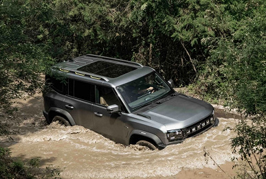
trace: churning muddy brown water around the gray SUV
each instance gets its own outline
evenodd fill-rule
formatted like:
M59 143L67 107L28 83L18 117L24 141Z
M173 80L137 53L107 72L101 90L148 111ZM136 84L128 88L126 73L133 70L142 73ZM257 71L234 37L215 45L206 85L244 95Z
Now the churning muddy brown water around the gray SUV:
M42 104L38 105L41 108ZM30 119L25 125L12 126L16 134L9 138L1 136L0 145L9 147L12 156L38 157L43 167L60 167L62 178L163 177L178 174L181 169L216 168L212 161L206 163L203 147L220 165L232 157L230 138L234 133L223 129L234 126L235 120L221 108L217 109L219 126L156 151L114 143L82 126L42 125L38 121L44 118L37 109L38 106L34 111L19 115L18 118Z

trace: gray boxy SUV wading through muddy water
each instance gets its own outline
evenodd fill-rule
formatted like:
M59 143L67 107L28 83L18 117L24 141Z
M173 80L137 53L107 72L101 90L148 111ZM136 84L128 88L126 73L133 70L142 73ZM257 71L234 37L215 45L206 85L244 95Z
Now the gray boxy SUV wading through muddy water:
M124 145L160 150L219 123L210 104L136 62L85 55L54 65L45 80L48 123L84 126Z

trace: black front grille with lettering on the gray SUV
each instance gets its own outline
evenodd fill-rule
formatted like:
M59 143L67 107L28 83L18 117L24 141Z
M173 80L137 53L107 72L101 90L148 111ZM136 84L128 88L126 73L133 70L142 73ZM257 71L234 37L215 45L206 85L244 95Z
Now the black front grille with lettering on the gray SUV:
M209 126L212 126L214 124L215 117L214 115L210 115L206 117L205 119L199 121L198 123L193 124L192 126L189 126L188 128L184 128L183 135L184 137L194 136L203 130L206 130Z

